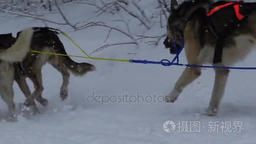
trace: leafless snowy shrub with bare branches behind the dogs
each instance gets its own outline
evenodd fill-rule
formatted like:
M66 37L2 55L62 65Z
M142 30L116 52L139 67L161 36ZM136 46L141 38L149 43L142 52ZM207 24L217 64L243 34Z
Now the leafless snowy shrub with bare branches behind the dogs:
M170 5L167 0L157 0L154 8L149 13L144 10L144 5L141 4L144 2L145 0L0 0L0 15L29 17L41 20L45 25L47 23L67 25L74 30L104 27L109 29L104 43L111 37L112 31L119 32L128 39L123 42L107 43L100 48L96 48L93 51L94 53L114 45L133 44L138 46L141 41L148 45L158 45L161 42L162 38L166 36L165 27L170 14ZM96 13L96 16L101 16L103 13L115 15L116 20L112 22L118 25L124 24L126 29L115 27L111 23L105 24L104 22L84 21L82 19L82 22L72 23L66 16L65 11L61 10L61 5L72 3L93 6L95 8L93 13ZM49 13L59 14L63 22L46 19L45 14ZM130 21L133 21L133 26L130 26ZM134 22L138 24L138 27L142 27L144 32L132 32ZM154 28L157 25L160 29L164 29L164 33L152 35L151 31L155 30ZM151 35L147 34L148 32Z

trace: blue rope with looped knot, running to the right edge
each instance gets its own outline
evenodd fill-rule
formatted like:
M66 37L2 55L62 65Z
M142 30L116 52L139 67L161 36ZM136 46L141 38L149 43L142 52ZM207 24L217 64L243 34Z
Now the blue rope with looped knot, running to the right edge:
M179 54L184 48L184 43L180 50L176 47L176 41L173 43L175 45L175 49L177 51L176 56L173 58L172 61L169 61L168 59L162 59L161 61L147 61L147 60L134 60L130 59L130 63L138 63L138 64L161 64L163 66L183 66L183 67L201 67L201 68L219 68L219 69L256 69L256 67L219 67L219 66L203 66L203 65L193 65L193 64L180 64L179 63ZM176 62L175 62L176 61Z

